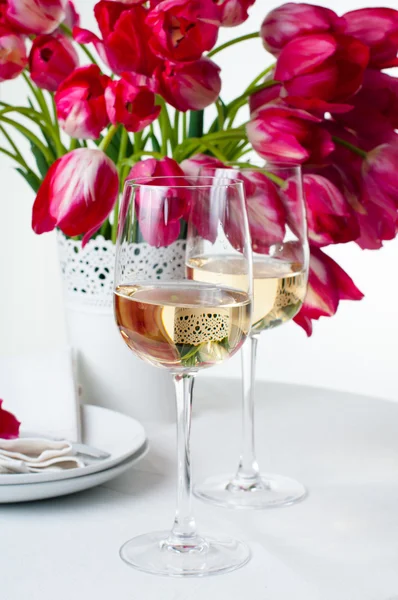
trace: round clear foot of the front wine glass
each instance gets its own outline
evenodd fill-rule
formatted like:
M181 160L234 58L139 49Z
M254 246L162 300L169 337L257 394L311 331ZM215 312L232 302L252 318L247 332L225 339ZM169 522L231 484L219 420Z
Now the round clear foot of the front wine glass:
M243 567L251 557L246 544L231 538L217 540L205 537L197 549L170 546L168 531L156 531L135 537L120 549L120 556L128 565L169 577L204 577L227 573Z

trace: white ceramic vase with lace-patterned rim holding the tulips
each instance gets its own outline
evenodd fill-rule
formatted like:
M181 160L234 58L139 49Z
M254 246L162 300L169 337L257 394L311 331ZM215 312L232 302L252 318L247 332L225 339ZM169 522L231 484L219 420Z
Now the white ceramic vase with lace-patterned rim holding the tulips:
M161 249L145 243L136 246L132 261L145 278L170 278L176 264L184 268L184 241ZM170 374L136 358L117 330L112 304L114 244L97 236L82 248L81 242L59 233L58 247L69 343L76 351L82 401L143 421L173 421Z

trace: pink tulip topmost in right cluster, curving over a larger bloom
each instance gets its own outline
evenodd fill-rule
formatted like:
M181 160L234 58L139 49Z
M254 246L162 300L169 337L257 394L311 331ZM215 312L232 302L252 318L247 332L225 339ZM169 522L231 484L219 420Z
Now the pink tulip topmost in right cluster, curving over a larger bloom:
M261 26L266 50L278 56L292 40L300 36L338 31L344 20L322 6L289 2L272 10Z

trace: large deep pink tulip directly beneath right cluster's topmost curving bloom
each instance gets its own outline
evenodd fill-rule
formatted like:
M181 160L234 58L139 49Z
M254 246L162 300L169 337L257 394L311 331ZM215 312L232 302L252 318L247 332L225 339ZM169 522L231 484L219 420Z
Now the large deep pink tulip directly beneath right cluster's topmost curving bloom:
M342 101L360 88L369 62L369 49L359 40L328 33L293 39L279 55L274 77L284 84L288 102L299 108L349 110ZM337 104L337 106L336 106Z

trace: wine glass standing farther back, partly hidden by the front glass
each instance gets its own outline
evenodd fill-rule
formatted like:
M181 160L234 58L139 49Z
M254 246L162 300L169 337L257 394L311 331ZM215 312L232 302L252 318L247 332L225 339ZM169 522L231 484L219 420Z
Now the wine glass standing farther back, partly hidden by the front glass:
M244 182L253 250L253 317L249 342L242 349L242 446L238 469L233 477L206 479L195 486L194 494L228 508L287 506L302 500L306 489L289 477L260 473L254 440L254 384L260 334L290 321L299 312L307 291L309 248L301 169L249 164L226 169L209 166L201 173L239 177ZM211 264L203 261L193 278L212 281L211 271ZM225 273L223 282L233 285L233 269Z

